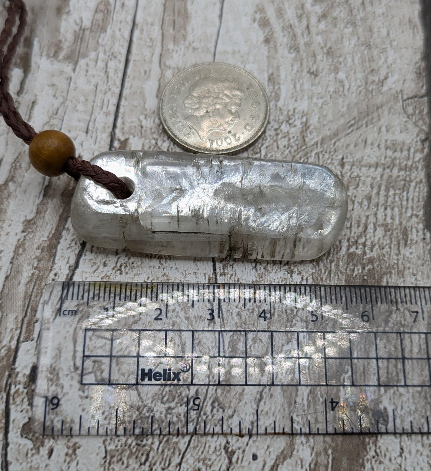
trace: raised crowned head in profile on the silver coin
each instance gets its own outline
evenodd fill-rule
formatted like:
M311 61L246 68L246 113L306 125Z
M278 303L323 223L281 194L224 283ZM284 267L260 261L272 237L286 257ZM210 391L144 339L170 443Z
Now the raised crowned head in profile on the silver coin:
M237 81L205 77L190 88L184 107L191 116L184 118L204 141L212 131L227 131L239 121L238 110L245 93Z

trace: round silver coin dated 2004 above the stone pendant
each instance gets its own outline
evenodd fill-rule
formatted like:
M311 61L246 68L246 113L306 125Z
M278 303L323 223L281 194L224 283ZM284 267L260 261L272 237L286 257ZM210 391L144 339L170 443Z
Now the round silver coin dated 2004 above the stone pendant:
M180 145L206 154L248 146L262 134L268 115L268 97L252 75L214 62L176 75L160 100L168 134Z

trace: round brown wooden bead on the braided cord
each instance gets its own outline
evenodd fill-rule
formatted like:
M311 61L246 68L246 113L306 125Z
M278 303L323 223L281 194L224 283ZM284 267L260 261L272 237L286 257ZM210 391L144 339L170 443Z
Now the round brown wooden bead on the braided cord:
M33 138L28 149L33 167L47 177L58 177L64 164L75 157L76 149L72 139L56 130L42 131Z

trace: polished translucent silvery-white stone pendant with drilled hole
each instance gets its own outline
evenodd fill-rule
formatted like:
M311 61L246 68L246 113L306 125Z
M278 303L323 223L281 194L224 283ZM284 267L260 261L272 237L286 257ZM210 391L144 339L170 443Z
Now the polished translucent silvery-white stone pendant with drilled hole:
M321 165L174 152L104 152L92 163L126 200L81 177L72 225L89 244L176 256L310 260L343 228L347 195Z

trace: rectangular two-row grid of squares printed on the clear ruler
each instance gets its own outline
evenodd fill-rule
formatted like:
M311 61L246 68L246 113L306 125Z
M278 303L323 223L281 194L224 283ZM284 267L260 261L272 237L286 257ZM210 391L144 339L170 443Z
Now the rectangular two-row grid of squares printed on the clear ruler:
M429 335L87 329L81 382L143 384L140 369L189 365L179 384L428 386Z

